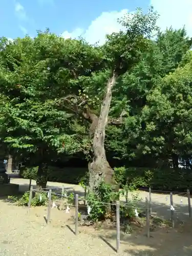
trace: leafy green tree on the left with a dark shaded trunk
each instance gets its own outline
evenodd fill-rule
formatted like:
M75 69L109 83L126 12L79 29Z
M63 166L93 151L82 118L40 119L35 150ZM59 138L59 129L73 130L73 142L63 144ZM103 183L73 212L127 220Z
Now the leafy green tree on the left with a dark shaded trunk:
M78 141L83 134L78 121L71 119L72 114L57 103L62 91L52 83L55 74L50 69L54 69L54 63L53 67L46 63L54 62L56 56L47 57L49 49L45 50L43 44L49 40L48 48L54 47L51 42L55 39L59 44L61 38L52 36L51 41L50 36L42 33L35 39L17 38L9 44L2 38L0 52L1 138L9 144L10 151L17 150L39 166L37 184L41 187L46 186L48 164L54 151L68 154L81 151Z

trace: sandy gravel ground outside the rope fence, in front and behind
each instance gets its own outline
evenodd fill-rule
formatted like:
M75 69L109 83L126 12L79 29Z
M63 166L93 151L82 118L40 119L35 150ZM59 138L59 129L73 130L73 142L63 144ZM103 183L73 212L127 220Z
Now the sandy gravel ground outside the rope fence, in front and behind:
M29 181L25 179L11 179L11 183L19 184L20 190L28 190ZM32 181L32 185L35 186L35 181ZM83 189L77 185L61 184L56 182L49 182L48 186L61 187L65 186L69 191L78 191L83 194ZM140 197L142 197L141 205L144 205L145 197L148 193L145 191L139 191ZM183 197L183 203L181 204L180 196L174 196L174 206L176 208L176 217L187 218L187 198ZM122 200L124 200L122 198ZM170 206L168 200L166 201L166 195L152 194L152 208L153 212L157 211L158 215L170 216ZM158 207L158 208L157 208ZM48 256L48 255L69 255L69 256L97 256L97 255L117 255L117 253L110 248L104 241L94 234L88 234L81 232L77 237L60 223L58 226L54 226L53 223L46 225L42 218L43 209L39 207L41 214L38 216L35 214L35 209L31 210L30 214L27 214L27 209L24 207L17 207L12 204L8 204L3 200L0 200L0 255L1 256ZM56 211L55 211L56 212ZM53 213L54 214L54 213ZM53 216L54 217L54 216ZM66 223L63 223L66 224ZM72 225L71 228L74 228ZM181 234L175 233L172 236L168 234L158 234L155 237L147 240L143 235L138 238L121 238L120 255L135 256L135 255L192 255L192 251L189 254L183 253L184 243L186 246L190 246L190 236L183 236L182 243L180 245ZM166 236L166 238L164 238ZM168 240L167 240L168 239ZM177 240L175 240L177 239ZM175 242L177 241L177 242ZM110 244L116 247L115 238L111 239ZM168 254L161 254L165 244L174 244L177 249L174 252ZM148 245L147 245L148 244ZM162 249L160 249L162 246ZM188 248L188 247L187 247ZM140 252L139 252L139 251ZM179 251L180 250L180 251ZM141 252L142 251L142 252ZM146 253L147 251L147 253ZM155 253L157 251L157 254ZM130 254L131 252L131 254ZM179 254L176 254L179 252Z

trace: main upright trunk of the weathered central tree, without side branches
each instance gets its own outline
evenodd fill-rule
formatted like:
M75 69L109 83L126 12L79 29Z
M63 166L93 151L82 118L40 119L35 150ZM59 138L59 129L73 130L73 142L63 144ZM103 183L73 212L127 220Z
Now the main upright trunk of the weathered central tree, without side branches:
M92 126L94 129L93 161L89 164L89 184L91 190L93 190L95 187L98 187L101 181L115 184L113 178L113 169L110 167L108 161L106 160L104 139L105 127L108 124L108 116L112 99L112 88L115 86L116 78L116 74L115 72L113 72L112 77L108 80L108 83L106 84L106 92L101 105L99 118L95 117L95 123L93 124L92 122Z

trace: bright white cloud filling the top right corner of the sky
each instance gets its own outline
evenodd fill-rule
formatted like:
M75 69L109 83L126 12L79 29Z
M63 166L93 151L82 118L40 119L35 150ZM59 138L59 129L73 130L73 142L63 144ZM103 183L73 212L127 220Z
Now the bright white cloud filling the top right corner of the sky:
M160 14L157 25L165 30L172 26L180 29L185 25L192 36L192 0L151 0L151 5Z

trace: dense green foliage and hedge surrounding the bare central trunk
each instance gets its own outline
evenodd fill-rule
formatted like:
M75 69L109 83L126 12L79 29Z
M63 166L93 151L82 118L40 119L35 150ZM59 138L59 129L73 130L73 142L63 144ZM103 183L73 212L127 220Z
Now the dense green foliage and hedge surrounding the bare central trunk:
M120 20L124 30L108 35L103 46L49 31L13 42L1 38L1 140L26 163L23 177L46 176L45 183L82 179L84 170L49 167L42 174L31 166L53 166L75 154L92 158L86 111L99 115L106 81L115 71L109 119L122 110L125 115L106 127L105 150L113 166L125 165L116 169L116 182L190 187L192 40L182 28L158 30L157 18L153 9L127 14Z

